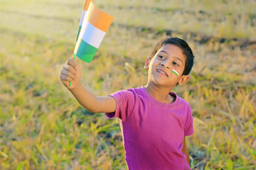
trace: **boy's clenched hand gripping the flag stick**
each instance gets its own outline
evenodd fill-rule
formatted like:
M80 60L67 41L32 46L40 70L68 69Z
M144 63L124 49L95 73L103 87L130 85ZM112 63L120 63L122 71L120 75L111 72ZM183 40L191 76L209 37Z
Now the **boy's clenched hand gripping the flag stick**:
M80 84L81 69L78 66L76 60L72 58L68 59L67 62L63 65L63 68L60 70L60 81L68 89L74 89L78 84ZM69 83L71 85L69 86Z

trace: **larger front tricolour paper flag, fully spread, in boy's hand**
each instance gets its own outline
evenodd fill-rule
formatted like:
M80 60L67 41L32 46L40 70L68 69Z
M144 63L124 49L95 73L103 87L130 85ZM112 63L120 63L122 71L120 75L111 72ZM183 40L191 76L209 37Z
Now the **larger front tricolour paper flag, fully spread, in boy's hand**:
M74 54L85 62L91 62L113 19L113 16L101 11L90 2L87 14L82 20Z

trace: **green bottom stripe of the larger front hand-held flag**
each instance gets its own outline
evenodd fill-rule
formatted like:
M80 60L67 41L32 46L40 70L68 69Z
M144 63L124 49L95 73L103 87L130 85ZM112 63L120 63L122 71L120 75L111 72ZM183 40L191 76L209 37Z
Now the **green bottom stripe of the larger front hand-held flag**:
M90 63L96 52L97 48L92 47L92 45L89 45L87 42L81 40L78 47L78 52L75 55L78 56L82 61Z

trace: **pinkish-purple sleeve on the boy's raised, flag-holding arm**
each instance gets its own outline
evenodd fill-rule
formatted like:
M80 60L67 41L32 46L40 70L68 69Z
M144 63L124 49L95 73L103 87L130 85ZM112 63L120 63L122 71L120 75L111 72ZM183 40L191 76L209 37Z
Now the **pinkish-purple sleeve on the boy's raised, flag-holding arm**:
M110 96L112 96L117 102L117 108L116 111L112 113L105 113L107 118L117 117L121 119L122 122L125 122L134 108L134 94L132 91L117 91Z

